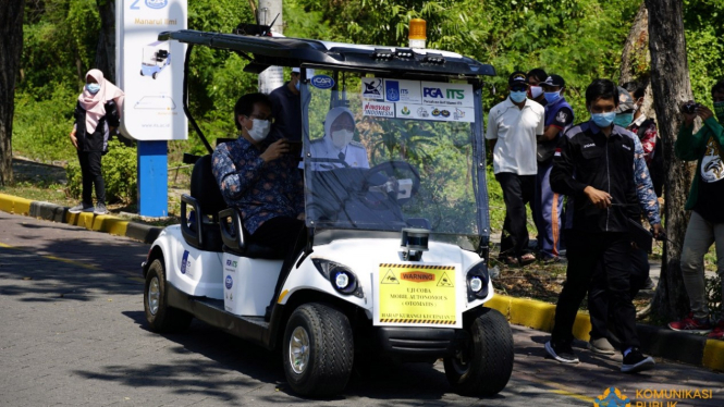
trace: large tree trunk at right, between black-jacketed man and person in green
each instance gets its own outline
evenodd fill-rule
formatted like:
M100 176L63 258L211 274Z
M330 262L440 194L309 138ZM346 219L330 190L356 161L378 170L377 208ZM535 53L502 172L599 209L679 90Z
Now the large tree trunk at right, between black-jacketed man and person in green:
M651 87L663 141L665 185L664 208L666 233L661 280L651 311L660 319L672 320L689 308L680 269L682 244L689 221L684 210L694 173L691 164L674 156L674 141L682 124L679 104L692 99L682 0L646 0L649 10L649 50Z

